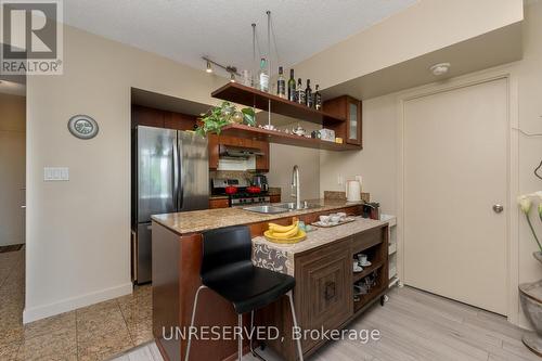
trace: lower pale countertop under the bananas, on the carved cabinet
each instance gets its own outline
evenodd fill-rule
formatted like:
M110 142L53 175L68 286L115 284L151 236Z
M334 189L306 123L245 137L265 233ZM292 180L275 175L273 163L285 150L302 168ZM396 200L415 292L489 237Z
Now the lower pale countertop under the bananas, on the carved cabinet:
M257 236L253 238L255 245L262 245L268 249L276 249L288 255L299 254L314 247L319 247L337 240L343 240L349 235L367 231L370 229L382 227L386 224L385 220L374 220L369 218L357 217L353 222L345 223L343 225L331 228L317 228L317 231L308 232L307 238L296 244L278 244L269 242L264 236Z

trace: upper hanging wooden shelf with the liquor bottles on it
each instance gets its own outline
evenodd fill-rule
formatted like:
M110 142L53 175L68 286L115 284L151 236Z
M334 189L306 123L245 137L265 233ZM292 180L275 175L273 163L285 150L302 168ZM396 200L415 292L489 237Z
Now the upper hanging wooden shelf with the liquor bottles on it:
M228 82L225 86L215 90L211 96L246 106L254 106L266 112L269 112L269 105L271 103L271 113L315 124L322 124L323 121L346 121L345 118L291 102L286 99L243 86L238 82Z

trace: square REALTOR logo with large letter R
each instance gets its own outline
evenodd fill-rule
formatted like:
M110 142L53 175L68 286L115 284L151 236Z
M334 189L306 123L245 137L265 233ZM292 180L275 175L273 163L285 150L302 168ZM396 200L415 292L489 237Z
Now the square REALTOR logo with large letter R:
M62 74L61 1L0 0L0 74Z

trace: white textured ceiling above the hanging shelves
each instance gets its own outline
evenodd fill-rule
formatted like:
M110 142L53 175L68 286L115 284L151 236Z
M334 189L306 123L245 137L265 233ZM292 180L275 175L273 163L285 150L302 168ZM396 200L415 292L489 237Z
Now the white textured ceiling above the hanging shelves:
M64 22L196 68L204 68L201 57L207 55L241 70L254 68L251 23L262 55L267 52L270 10L275 69L278 63L297 64L416 1L69 0L64 1Z

